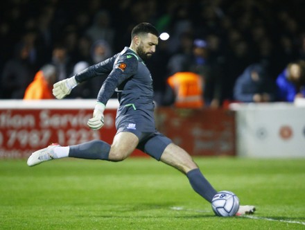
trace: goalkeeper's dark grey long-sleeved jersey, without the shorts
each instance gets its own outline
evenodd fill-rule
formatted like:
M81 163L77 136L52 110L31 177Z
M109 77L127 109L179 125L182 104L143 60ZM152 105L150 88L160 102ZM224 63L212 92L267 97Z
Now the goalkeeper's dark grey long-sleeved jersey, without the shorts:
M130 48L125 47L121 53L76 74L76 81L84 82L105 74L108 76L98 92L98 102L106 105L114 91L118 91L121 106L132 104L137 108L153 109L150 71L141 57Z

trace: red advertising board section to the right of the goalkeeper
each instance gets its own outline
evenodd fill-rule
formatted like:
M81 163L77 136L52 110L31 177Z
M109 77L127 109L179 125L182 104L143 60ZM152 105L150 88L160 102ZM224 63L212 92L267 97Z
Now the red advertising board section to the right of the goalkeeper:
M158 108L159 131L191 155L236 154L235 114L227 109Z

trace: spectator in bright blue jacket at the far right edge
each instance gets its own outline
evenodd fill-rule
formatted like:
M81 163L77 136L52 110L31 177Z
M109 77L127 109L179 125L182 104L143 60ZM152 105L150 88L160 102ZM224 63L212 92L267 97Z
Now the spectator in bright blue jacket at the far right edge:
M293 102L305 97L305 61L290 62L277 77L278 100Z

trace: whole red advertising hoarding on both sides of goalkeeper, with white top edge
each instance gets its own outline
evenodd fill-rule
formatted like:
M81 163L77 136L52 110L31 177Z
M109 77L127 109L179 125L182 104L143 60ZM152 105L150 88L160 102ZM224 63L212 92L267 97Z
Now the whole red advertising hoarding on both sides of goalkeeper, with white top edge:
M94 100L15 101L0 105L0 159L26 158L51 143L76 145L116 134L116 104L107 104L101 130L89 129ZM62 109L63 108L63 109ZM156 109L157 129L192 155L235 155L234 112L223 109ZM136 150L132 156L147 156Z

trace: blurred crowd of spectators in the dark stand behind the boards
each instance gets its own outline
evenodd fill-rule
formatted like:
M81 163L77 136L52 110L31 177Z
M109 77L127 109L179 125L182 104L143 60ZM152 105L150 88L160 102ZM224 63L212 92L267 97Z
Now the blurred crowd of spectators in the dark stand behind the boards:
M202 78L195 82L207 107L293 101L305 96L304 7L302 0L1 1L0 98L22 99L34 81L51 89L129 46L131 29L147 21L170 35L146 62L159 105L174 103L176 73ZM104 79L69 98L96 98Z

